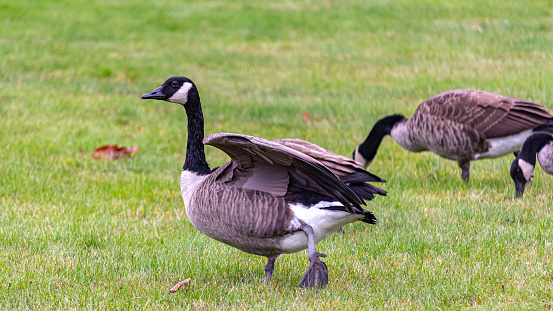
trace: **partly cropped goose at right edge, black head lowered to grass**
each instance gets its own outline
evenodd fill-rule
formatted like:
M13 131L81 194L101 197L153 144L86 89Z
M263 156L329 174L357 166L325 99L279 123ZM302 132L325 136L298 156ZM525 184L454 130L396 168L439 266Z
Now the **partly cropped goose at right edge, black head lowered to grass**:
M547 174L553 175L553 136L548 133L537 133L528 137L511 164L511 178L515 182L517 198L524 194L524 187L530 181L536 166L536 153L541 168Z

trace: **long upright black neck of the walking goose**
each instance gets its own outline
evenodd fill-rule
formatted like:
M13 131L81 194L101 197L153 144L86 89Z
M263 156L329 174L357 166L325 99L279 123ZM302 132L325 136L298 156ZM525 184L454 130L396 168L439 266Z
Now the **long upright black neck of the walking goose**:
M188 117L188 141L186 142L186 160L184 160L182 170L200 175L210 174L211 169L205 159L202 142L204 139L204 115L197 91L188 94L188 102L184 108Z

